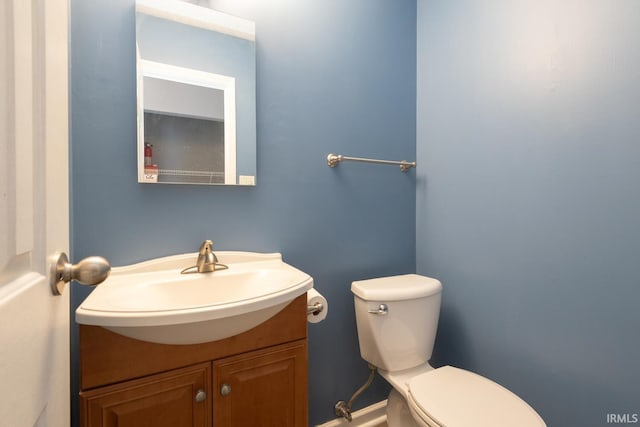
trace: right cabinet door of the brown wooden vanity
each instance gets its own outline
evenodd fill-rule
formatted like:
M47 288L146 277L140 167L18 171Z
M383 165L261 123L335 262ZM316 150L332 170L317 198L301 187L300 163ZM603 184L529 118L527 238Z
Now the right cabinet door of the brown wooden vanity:
M307 427L307 343L214 361L216 427Z

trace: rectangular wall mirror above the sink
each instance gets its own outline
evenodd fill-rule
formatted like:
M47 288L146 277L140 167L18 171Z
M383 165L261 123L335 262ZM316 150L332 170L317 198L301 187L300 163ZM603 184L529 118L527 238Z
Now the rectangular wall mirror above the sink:
M255 25L136 0L138 182L255 185Z

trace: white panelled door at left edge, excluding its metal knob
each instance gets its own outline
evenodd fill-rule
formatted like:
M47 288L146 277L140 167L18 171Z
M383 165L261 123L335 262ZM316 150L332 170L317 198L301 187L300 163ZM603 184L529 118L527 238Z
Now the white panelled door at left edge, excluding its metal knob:
M69 426L67 0L0 0L0 425Z

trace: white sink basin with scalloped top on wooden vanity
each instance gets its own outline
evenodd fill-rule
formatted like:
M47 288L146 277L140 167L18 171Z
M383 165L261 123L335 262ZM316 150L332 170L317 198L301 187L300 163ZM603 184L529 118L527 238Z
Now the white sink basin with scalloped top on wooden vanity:
M313 287L279 253L216 251L229 266L180 274L197 253L115 267L76 310L76 321L162 344L197 344L248 331Z

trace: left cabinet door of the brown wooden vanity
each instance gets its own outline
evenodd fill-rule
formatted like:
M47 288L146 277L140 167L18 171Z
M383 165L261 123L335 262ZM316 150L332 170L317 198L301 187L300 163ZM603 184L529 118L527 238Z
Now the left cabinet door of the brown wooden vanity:
M211 364L80 393L85 427L211 426Z

